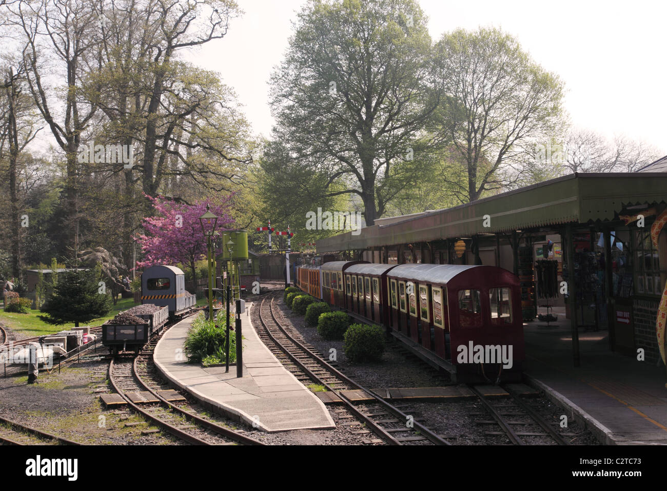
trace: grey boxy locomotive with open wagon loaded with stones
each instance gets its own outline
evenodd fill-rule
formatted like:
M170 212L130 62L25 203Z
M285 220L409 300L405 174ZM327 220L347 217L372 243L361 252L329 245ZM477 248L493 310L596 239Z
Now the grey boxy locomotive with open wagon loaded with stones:
M111 353L135 351L169 321L189 313L197 303L185 291L185 275L174 266L151 266L141 275L141 304L102 326L102 344Z

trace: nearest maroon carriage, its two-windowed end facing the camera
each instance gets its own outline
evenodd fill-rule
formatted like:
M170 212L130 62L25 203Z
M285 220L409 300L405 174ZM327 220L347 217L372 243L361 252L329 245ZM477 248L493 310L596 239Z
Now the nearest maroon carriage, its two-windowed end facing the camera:
M387 281L394 331L457 365L458 373L482 371L489 379L496 378L503 363L471 363L468 351L481 346L495 357L493 347L508 356L511 349L512 361L506 365L512 367L505 369L520 375L525 358L521 291L510 271L482 265L398 265L388 271Z

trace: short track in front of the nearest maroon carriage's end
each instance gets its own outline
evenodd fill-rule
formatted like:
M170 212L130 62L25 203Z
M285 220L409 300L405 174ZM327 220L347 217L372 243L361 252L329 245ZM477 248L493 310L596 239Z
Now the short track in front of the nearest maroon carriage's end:
M487 413L493 418L493 420L478 420L477 423L484 425L496 424L502 430L502 432L486 432L487 435L505 435L513 445L535 444L535 442L529 442L528 440L544 439L544 437L550 438L557 445L568 445L568 442L552 428L549 422L530 407L526 401L523 401L520 395L514 393L512 389L504 387L510 397L498 399L496 403L473 385L468 387L478 396ZM484 416L484 414L474 414L473 416Z

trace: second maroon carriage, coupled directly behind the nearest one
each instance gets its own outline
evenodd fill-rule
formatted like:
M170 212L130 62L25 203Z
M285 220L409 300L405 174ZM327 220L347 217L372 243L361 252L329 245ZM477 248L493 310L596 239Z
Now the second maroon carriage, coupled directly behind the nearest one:
M387 273L396 265L360 263L345 270L346 307L376 324L391 326L387 304ZM352 283L356 297L352 295ZM356 310L355 310L356 309Z

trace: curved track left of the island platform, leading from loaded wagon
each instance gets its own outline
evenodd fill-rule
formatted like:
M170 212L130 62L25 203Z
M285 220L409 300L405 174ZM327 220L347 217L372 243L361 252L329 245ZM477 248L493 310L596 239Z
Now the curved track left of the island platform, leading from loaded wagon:
M165 333L163 329L161 333ZM111 359L109 362L109 381L113 389L137 414L159 426L165 432L183 442L193 445L263 445L261 442L239 432L221 426L205 416L195 414L194 410L185 410L175 403L167 401L159 393L153 365L153 348L157 339L149 341L139 356L123 359ZM147 391L157 399L156 403L137 404L129 394Z

